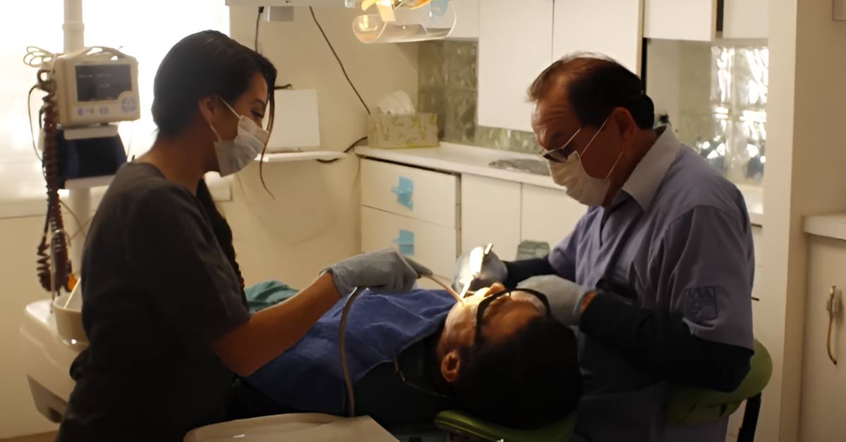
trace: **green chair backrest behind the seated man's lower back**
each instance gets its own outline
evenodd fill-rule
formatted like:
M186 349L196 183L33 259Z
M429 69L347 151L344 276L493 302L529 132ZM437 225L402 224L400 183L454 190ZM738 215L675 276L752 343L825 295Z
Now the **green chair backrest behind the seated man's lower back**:
M770 382L772 358L761 342L755 341L755 355L750 360L749 374L731 393L677 385L667 400L667 421L670 423L714 422L737 411L743 401L758 396Z

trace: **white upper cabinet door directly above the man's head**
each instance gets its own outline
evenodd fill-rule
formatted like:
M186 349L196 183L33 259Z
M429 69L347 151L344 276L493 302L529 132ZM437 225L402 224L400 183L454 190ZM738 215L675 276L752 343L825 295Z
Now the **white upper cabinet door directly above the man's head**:
M552 57L598 52L640 75L643 0L556 0Z

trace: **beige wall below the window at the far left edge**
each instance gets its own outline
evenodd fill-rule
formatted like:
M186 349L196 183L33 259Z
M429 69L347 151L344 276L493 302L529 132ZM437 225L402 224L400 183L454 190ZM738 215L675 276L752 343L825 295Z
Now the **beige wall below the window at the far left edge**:
M56 428L36 411L30 398L19 335L26 304L50 296L36 277L36 246L43 227L41 216L0 220L0 439Z

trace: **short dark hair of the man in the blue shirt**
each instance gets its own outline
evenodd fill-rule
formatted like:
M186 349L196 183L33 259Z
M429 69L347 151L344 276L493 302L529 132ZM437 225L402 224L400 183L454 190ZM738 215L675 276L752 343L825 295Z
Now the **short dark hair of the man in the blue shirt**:
M639 128L655 124L655 106L643 82L609 57L575 53L544 69L529 88L529 99L539 101L555 87L567 88L570 107L579 122L599 126L615 107L632 114Z

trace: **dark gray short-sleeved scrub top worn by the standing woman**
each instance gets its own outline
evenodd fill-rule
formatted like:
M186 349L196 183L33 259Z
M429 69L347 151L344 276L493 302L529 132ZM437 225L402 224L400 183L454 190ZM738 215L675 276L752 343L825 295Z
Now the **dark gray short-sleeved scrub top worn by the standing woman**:
M127 163L85 241L82 322L90 346L58 441L181 441L222 422L234 374L211 342L250 319L201 197L156 166Z

